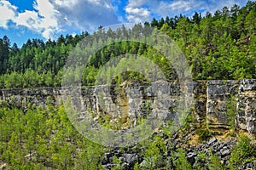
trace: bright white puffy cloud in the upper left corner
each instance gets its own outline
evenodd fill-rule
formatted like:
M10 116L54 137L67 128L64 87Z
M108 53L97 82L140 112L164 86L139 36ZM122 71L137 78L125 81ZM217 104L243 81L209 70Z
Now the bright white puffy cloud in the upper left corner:
M18 13L17 7L9 1L0 2L0 26L8 29L8 22L11 20L15 26L25 26L29 30L42 34L45 38L54 38L55 31L60 31L58 25L58 12L49 3L49 0L37 0L33 7L35 10L25 10Z

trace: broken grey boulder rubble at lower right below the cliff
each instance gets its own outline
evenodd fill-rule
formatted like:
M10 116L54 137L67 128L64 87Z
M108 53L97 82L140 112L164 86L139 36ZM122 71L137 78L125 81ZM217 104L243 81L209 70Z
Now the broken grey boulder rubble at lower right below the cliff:
M187 135L186 135L187 136ZM183 146L185 148L183 148ZM197 169L196 167L201 167L200 169L208 169L208 163L211 161L211 156L218 156L218 159L222 162L224 167L229 166L231 150L234 149L236 145L236 139L222 140L212 138L207 141L205 144L198 145L189 145L186 144L184 138L177 138L166 140L166 150L167 154L163 156L162 162L164 164L168 162L168 166L170 169L176 169L174 160L177 158L173 156L173 152L177 152L178 149L183 148L187 161L189 164L193 166L193 169ZM136 147L136 146L134 146ZM147 167L147 161L139 152L131 153L132 148L128 150L120 150L119 148L115 148L108 153L105 153L104 158L102 159L102 166L105 169L111 169L112 167L116 167L117 164L113 164L113 157L116 156L120 165L124 169L133 169L136 162L139 163L140 167ZM128 154L126 152L129 152ZM168 160L168 161L166 161ZM160 165L160 162L157 162ZM255 169L255 164L253 162L245 162L243 165L237 167L239 169Z

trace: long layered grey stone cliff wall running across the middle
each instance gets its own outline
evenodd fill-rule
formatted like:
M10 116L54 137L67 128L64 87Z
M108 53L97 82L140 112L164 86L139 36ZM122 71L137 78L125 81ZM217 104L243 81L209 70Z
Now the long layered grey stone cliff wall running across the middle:
M229 127L232 119L227 114L227 104L232 97L236 104L236 129L256 134L256 80L197 81L185 85L179 82L152 82L143 86L123 84L78 89L1 89L0 105L26 109L30 103L45 107L60 104L65 95L71 98L72 105L77 109L81 109L78 104L82 104L85 110L120 117L124 124L128 121L136 124L138 116L146 117L150 113L164 121L175 120L177 112L189 104L189 113L193 114L195 122L200 124L207 118L212 129ZM190 105L191 102L193 105Z

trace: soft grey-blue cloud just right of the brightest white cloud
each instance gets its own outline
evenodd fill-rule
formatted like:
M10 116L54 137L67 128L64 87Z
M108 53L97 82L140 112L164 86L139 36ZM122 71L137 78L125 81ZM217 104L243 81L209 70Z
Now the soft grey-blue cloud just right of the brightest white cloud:
M52 4L61 14L61 25L76 26L79 30L94 31L98 26L120 22L110 0L52 0Z

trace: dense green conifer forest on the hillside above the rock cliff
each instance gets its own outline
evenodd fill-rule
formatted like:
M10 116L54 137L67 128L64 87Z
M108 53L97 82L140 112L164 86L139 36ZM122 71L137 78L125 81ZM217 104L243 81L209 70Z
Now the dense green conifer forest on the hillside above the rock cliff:
M241 8L235 4L214 14L201 16L195 12L192 17L181 14L173 18L154 19L143 25L166 32L177 43L189 62L193 79L245 79L256 78L255 18L256 3L248 1ZM105 31L99 27L92 37L96 40L96 37L104 35L113 38L120 34L137 35L137 31L143 31L143 25L116 31ZM90 34L84 31L76 36L61 35L56 41L29 39L21 48L16 43L11 45L9 38L4 36L0 39L0 88L60 87L63 66L70 52L87 36ZM83 84L94 85L101 66L113 56L127 52L143 54L161 65L160 59L154 57L152 48L123 41L102 48L92 56L90 64L84 68Z

